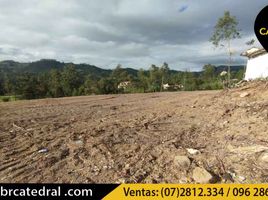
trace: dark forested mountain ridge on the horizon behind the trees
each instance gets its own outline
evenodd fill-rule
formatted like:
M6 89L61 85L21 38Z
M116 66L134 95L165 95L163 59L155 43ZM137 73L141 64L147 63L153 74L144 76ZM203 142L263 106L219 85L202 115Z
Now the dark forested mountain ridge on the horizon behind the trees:
M58 69L62 70L67 65L74 65L76 69L84 74L92 74L95 77L103 77L103 76L109 76L109 74L112 72L111 69L102 69L99 67L96 67L94 65L89 64L74 64L74 63L64 63L59 62L57 60L53 59L42 59L35 62L29 62L29 63L20 63L12 60L6 60L0 62L0 72L6 72L6 73L23 73L23 72L29 72L29 73L43 73L43 72L49 72L51 69ZM244 69L244 66L232 66L231 71L237 72L241 69ZM132 68L125 68L125 70L133 75L137 76L138 70L132 69ZM227 70L227 66L220 65L216 67L216 73L221 73L222 71ZM170 73L178 73L180 71L177 70L170 70ZM199 75L201 72L195 72L196 75Z

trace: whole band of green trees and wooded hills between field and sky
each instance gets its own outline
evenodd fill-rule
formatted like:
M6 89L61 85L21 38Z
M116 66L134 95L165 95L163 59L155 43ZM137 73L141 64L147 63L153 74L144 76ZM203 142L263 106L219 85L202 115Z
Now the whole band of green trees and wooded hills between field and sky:
M56 67L51 67L54 63ZM47 67L46 67L47 66ZM91 65L41 60L36 63L0 62L1 101L91 94L144 93L222 89L220 73L226 66L207 64L201 72L170 70L167 63L149 70L118 65L104 70ZM231 67L231 78L241 80L243 66ZM169 87L164 88L164 85Z

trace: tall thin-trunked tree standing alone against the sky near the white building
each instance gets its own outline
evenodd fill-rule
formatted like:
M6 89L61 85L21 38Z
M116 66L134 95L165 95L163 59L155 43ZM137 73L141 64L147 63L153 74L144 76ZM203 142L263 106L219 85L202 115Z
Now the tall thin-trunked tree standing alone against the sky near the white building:
M230 68L232 62L231 40L240 38L240 32L237 29L238 22L235 16L231 16L229 11L224 12L224 16L218 19L214 27L214 33L210 41L215 47L219 45L227 48L228 62L228 86L230 86ZM222 44L223 43L223 44Z

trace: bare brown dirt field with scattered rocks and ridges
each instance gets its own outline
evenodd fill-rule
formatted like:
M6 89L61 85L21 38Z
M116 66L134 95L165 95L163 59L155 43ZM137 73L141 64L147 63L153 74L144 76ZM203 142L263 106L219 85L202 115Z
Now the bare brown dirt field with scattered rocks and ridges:
M0 103L0 182L268 182L268 84Z

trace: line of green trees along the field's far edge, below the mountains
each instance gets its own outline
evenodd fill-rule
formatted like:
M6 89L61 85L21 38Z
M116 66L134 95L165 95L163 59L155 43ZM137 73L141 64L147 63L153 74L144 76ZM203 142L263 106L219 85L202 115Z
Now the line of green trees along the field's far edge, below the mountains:
M130 74L118 65L105 77L97 78L67 65L62 70L52 69L40 73L1 73L0 95L17 96L22 99L56 98L91 94L145 93L165 90L214 90L224 87L224 77L213 65L205 65L203 71L178 72L169 69L167 63L152 65L149 70L140 69L137 75ZM232 79L241 80L244 71L232 72ZM118 87L127 82L125 87ZM180 88L164 89L164 84L180 85Z

